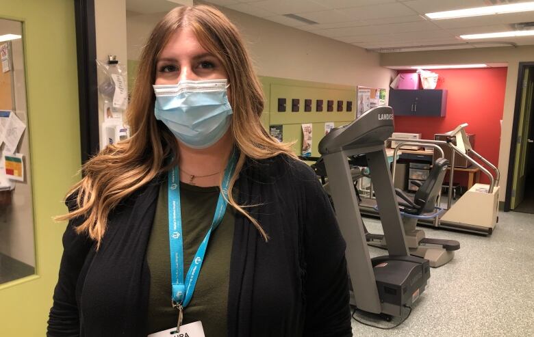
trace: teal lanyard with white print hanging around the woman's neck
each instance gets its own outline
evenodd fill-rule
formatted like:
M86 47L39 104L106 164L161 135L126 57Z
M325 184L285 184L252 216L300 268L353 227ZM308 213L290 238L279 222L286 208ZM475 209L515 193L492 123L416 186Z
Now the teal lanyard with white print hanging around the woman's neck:
M219 226L220 222L223 221L226 212L227 202L225 198L228 198L228 186L233 171L236 169L237 161L236 151L234 150L225 169L222 184L223 189L219 194L212 226L207 231L203 241L199 245L199 249L194 255L194 259L186 275L186 280L183 280L183 239L179 170L176 166L168 172L168 240L170 247L170 279L173 285L173 306L185 308L191 301L196 280L199 278L202 262L204 261L209 236Z

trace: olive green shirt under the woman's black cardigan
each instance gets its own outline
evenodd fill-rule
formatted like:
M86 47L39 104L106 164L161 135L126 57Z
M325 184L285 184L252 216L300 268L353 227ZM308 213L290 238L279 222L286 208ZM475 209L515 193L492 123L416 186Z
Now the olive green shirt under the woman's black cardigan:
M184 273L187 273L196 250L212 225L218 196L218 187L198 187L180 183ZM227 336L227 301L234 221L235 210L227 206L223 221L209 239L193 297L183 310L183 324L201 321L207 337ZM172 308L170 302L166 181L162 183L157 198L147 248L147 262L150 269L148 332L152 334L174 327L178 317L177 310Z

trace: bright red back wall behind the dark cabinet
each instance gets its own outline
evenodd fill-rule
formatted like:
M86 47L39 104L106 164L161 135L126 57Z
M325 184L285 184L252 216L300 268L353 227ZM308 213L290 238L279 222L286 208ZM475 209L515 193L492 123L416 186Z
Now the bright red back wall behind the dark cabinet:
M468 123L466 131L476 134L474 150L497 166L507 68L431 71L440 75L436 89L448 90L446 116L396 116L395 132L421 133L423 139L434 139L434 133L451 131L461 123ZM464 181L458 180L466 185ZM489 183L482 173L481 182Z

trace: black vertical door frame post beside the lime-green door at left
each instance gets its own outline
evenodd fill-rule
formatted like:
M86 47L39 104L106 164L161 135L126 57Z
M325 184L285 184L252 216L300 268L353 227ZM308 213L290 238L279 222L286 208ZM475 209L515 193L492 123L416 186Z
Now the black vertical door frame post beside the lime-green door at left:
M94 0L74 0L81 162L99 150L97 90L97 42L94 28Z

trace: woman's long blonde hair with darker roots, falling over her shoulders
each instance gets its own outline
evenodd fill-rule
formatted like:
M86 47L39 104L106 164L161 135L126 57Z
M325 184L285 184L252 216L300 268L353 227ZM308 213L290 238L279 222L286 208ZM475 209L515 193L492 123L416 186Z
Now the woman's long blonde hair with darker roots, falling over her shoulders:
M236 170L230 180L228 202L254 224L264 239L267 234L256 219L233 199L232 189L246 157L266 159L279 154L295 157L291 144L279 143L270 137L261 124L264 109L262 86L253 70L251 57L244 47L240 33L228 18L207 5L179 7L171 10L157 23L142 51L136 82L127 111L131 137L107 146L82 167L84 178L67 193L77 196L77 207L66 215L56 217L63 221L83 217L76 228L85 232L100 245L107 226L107 217L124 198L140 189L153 178L177 165L175 136L154 116L157 57L170 37L183 27L189 27L203 48L218 57L228 74L231 87L230 104L233 107L232 135L240 150Z

